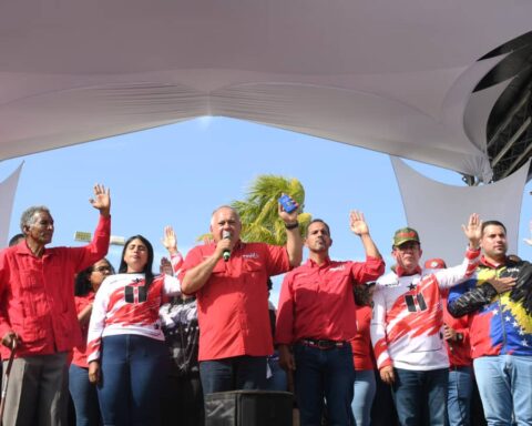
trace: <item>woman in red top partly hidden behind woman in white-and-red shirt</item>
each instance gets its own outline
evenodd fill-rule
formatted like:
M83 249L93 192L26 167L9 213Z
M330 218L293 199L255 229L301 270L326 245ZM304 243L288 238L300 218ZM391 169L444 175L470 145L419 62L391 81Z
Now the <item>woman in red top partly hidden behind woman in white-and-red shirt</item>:
M114 274L114 268L106 258L102 258L81 271L75 277L75 310L85 343L94 297L103 280L110 274ZM99 426L101 425L100 406L96 388L89 382L86 355L86 345L74 347L69 369L69 389L74 403L76 426Z

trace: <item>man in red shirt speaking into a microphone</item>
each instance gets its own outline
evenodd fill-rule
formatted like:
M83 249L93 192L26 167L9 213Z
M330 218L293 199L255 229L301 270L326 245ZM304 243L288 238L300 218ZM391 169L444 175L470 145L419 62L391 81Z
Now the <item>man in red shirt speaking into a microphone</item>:
M197 297L205 395L265 386L266 356L273 353L266 282L299 265L303 254L297 210L287 213L279 204L278 212L286 246L242 242L241 217L221 206L211 220L214 242L194 247L183 264L182 291Z

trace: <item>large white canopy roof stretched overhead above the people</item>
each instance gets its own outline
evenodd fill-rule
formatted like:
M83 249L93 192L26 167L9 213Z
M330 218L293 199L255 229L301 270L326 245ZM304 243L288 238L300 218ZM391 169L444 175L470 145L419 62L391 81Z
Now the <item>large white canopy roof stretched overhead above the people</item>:
M490 178L472 95L526 0L0 4L0 160L224 115ZM477 100L479 99L479 100Z

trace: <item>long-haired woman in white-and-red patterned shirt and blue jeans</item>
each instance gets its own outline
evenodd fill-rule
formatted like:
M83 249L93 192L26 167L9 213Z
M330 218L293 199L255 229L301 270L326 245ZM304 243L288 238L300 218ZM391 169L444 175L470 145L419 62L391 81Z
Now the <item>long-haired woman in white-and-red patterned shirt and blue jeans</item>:
M152 244L142 235L130 237L119 274L103 282L94 301L89 378L98 383L104 425L160 424L167 349L158 308L163 295L178 294L181 285L173 276L154 276L152 264Z

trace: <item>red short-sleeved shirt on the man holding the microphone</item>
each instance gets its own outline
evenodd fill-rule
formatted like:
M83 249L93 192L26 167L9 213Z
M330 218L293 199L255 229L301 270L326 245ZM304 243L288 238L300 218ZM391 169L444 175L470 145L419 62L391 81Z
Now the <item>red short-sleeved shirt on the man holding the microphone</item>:
M180 274L214 254L215 244L188 252ZM238 243L228 262L219 260L196 293L200 323L200 361L273 353L268 315L269 276L290 268L285 247Z

